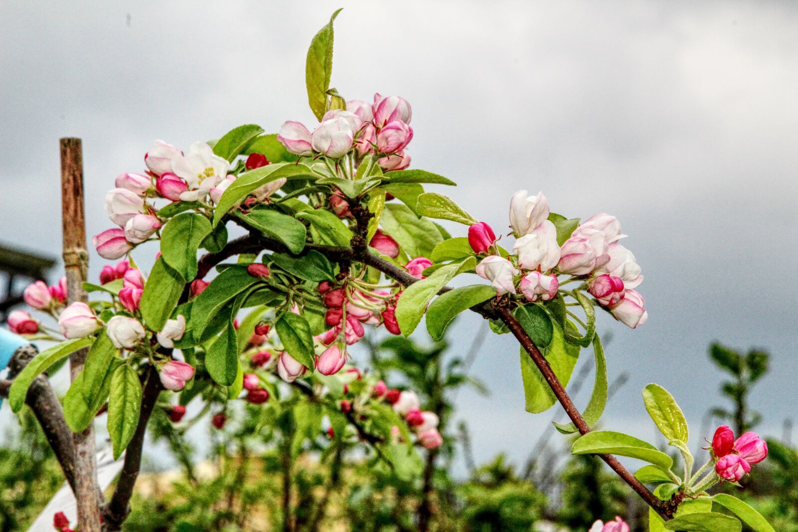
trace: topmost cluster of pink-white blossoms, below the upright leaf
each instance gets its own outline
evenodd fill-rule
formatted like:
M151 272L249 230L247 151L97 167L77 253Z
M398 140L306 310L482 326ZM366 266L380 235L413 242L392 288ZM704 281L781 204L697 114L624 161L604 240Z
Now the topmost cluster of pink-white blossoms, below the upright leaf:
M412 116L404 98L377 93L373 104L349 100L346 110L330 109L312 133L299 122L286 121L277 140L298 156L340 159L354 150L359 157L377 156L384 171L402 170L410 164L405 148L413 140Z

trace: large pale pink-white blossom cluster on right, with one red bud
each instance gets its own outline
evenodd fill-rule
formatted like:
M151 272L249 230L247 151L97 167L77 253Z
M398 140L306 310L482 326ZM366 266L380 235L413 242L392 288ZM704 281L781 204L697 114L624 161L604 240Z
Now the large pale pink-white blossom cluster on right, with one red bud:
M543 192L536 196L518 191L510 202L510 227L516 236L513 255L503 256L496 234L487 223L468 229L468 242L477 254L487 256L476 273L488 279L496 294L523 294L528 301L548 301L557 296L561 274L564 282L583 281L587 291L618 321L631 328L648 319L643 298L634 289L642 283L634 254L618 243L621 224L614 216L600 213L576 227L563 245L550 220Z

